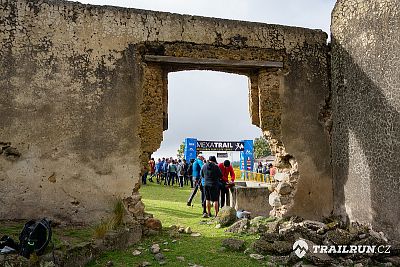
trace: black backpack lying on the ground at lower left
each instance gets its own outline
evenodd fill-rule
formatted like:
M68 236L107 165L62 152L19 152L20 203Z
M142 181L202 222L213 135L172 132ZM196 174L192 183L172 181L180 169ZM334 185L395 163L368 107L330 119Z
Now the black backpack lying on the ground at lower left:
M46 218L27 222L19 235L19 254L28 259L33 252L42 255L51 240L51 235L50 221Z

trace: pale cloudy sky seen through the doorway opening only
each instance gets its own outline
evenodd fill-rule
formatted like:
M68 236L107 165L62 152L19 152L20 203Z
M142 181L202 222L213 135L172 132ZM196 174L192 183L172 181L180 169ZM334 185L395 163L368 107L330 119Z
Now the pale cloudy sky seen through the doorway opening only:
M187 137L198 140L254 140L261 129L251 124L248 77L213 71L180 71L168 74L168 130L152 155L177 158ZM215 152L203 152L207 158ZM183 155L179 155L182 158ZM229 152L231 162L239 152ZM217 158L218 162L224 158Z

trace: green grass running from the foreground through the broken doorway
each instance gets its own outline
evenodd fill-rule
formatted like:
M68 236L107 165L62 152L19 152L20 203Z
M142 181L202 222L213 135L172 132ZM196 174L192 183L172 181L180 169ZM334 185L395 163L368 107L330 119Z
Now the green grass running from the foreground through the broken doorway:
M142 186L140 193L146 205L146 211L161 220L164 230L159 236L144 239L140 244L124 251L111 251L103 254L98 260L88 266L105 266L112 261L114 266L138 266L144 261L151 266L159 266L159 262L150 253L152 244L159 244L165 256L164 266L189 266L197 264L201 266L263 266L266 261L251 259L243 252L221 250L222 240L227 237L236 237L246 241L248 246L256 237L250 235L234 235L225 233L223 228L216 229L212 219L201 218L200 194L193 200L194 206L186 206L186 201L191 189L188 187L165 187L154 183ZM207 224L209 222L210 224ZM200 237L192 237L181 234L179 237L171 237L168 227L180 225L191 227L193 232L201 233ZM133 256L135 249L142 251L139 256ZM163 251L167 249L168 251ZM184 257L179 260L177 257Z

